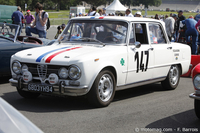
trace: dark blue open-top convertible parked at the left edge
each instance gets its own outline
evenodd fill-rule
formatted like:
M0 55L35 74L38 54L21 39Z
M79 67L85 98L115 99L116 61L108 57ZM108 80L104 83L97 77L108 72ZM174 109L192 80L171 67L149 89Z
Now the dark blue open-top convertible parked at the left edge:
M0 76L10 75L10 57L18 51L52 44L51 40L17 36L18 25L0 23Z

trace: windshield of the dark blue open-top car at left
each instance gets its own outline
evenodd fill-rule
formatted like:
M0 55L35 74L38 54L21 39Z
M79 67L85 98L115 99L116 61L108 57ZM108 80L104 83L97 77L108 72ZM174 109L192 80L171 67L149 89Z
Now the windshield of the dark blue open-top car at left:
M0 23L0 37L14 40L18 33L18 25Z

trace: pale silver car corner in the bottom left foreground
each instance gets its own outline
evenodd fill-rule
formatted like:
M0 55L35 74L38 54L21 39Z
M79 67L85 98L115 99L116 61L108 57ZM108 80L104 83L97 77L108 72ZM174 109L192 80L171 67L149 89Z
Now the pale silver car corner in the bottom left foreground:
M24 115L0 97L1 133L43 133Z

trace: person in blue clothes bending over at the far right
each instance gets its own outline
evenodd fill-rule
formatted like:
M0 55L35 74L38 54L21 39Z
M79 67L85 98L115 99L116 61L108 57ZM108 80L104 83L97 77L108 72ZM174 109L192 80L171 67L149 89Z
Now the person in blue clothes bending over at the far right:
M186 25L187 30L185 31L185 37L187 43L189 42L188 37L192 36L192 54L197 54L197 42L198 42L198 32L195 28L197 21L194 20L193 16L189 16L188 19L182 21Z

